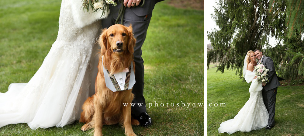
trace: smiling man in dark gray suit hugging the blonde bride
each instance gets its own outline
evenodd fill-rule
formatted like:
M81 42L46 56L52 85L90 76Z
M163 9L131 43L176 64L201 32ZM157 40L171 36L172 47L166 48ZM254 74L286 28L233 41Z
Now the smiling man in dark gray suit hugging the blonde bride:
M275 72L275 66L272 59L264 56L263 52L260 50L254 50L254 53L256 54L257 59L261 61L261 64L263 64L266 69L269 69L267 72L268 83L263 83L263 101L269 113L268 125L265 129L271 129L275 126L275 98L277 96L280 82L278 80L277 73Z

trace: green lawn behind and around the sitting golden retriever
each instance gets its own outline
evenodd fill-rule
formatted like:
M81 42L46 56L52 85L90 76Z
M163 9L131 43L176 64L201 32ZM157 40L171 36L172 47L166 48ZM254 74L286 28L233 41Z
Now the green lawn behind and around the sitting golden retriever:
M0 2L0 92L11 83L28 82L38 70L56 40L60 4L60 0ZM167 1L155 6L142 47L144 96L147 106L153 103L147 108L153 125L133 127L137 135L203 135L203 107L197 104L203 103L203 24L203 11L177 9ZM191 106L182 107L181 101ZM93 135L82 132L82 125L76 121L63 128L31 130L25 123L10 124L0 128L0 135ZM104 126L103 134L124 135L124 131L119 125Z

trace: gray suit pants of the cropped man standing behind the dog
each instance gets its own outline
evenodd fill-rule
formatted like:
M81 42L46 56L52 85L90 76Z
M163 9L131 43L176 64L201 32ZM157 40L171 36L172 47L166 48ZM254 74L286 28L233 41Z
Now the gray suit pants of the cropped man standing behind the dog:
M116 7L110 6L110 14L106 19L102 19L102 28L109 28L110 26L115 24L116 18L118 16L119 7L121 3L117 3ZM154 7L154 6L153 6ZM141 58L142 51L141 47L143 42L146 39L147 29L150 23L150 19L152 16L152 11L147 16L137 16L130 8L126 8L124 17L123 17L123 25L129 26L132 25L134 37L136 38L136 46L134 47L134 62L135 62L135 80L136 83L133 86L132 93L134 94L134 99L132 103L135 103L135 106L131 107L132 113L135 116L138 116L140 113L146 112L146 101L143 96L143 78L144 78L144 66L143 66L143 58ZM96 61L96 60L95 60ZM95 62L97 67L97 64ZM95 66L94 66L95 67ZM97 72L93 72L93 76ZM96 77L96 76L95 76ZM138 105L142 103L142 105Z

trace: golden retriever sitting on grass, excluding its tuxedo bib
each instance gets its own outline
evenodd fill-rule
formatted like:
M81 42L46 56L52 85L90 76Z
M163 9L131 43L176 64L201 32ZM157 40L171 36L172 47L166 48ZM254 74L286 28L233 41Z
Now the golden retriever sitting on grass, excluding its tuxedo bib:
M133 62L136 39L132 26L113 25L104 29L99 37L101 52L98 63L98 74L95 82L95 94L89 97L82 106L80 122L85 123L82 131L94 128L94 136L102 136L102 125L120 123L127 136L135 136L132 126L139 125L138 120L131 119L131 105L134 95L132 89L112 92L105 84L103 66L109 75L122 72ZM102 62L103 56L103 62ZM106 75L107 76L107 75ZM129 103L124 106L123 103ZM132 122L131 122L132 120Z

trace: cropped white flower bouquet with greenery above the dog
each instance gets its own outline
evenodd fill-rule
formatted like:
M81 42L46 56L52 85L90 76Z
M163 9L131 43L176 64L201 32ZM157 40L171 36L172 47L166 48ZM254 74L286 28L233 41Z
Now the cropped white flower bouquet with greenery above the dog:
M89 12L90 8L94 12L102 10L102 16L105 12L109 11L109 4L112 4L113 6L117 5L114 0L83 0L82 2L83 10L86 10L87 12Z

